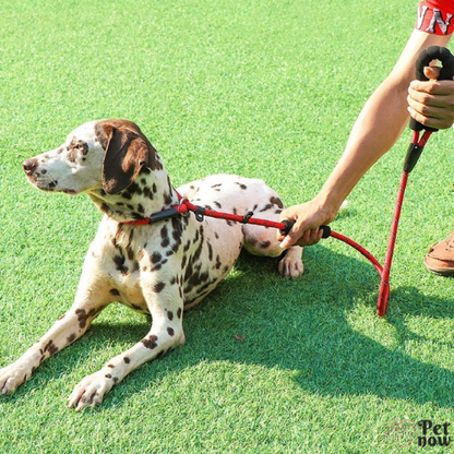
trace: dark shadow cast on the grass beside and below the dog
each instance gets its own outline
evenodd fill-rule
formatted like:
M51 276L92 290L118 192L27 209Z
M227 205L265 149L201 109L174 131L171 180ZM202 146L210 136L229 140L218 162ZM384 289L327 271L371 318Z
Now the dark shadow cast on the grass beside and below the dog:
M299 386L322 396L363 394L454 406L454 373L418 361L403 348L414 334L402 313L452 319L447 299L427 297L414 287L395 289L387 320L378 322L379 328L389 324L397 333L398 345L387 348L354 330L348 320L358 304L361 311L375 311L379 277L371 265L318 246L306 252L304 277L282 279L276 266L276 260L241 255L229 278L186 313L187 344L128 377L109 393L99 410L112 405L112 394L115 405L122 405L128 395L121 391L124 385L143 390L150 382L201 361L290 370ZM14 401L24 397L29 386L45 386L49 374L51 379L69 365L82 363L93 355L91 346L96 348L106 342L132 345L147 331L145 320L118 325L105 319L95 322L82 340L50 360L53 366L41 378L37 371L21 386ZM82 348L77 347L80 343L84 343Z

